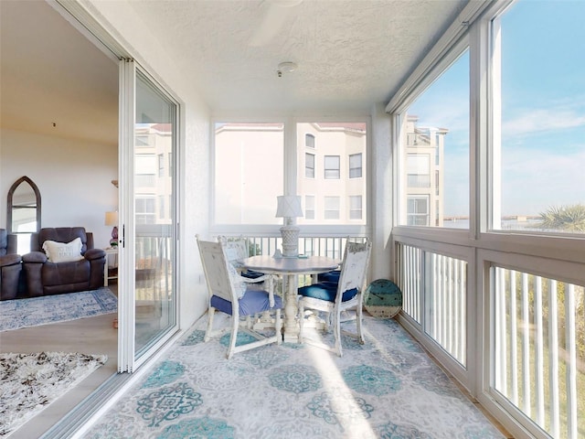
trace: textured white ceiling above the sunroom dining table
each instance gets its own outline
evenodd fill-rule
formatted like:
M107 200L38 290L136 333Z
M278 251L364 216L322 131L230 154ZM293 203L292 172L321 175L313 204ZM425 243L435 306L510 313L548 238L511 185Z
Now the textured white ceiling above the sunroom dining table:
M133 2L214 111L388 102L467 0ZM298 69L277 75L282 61Z

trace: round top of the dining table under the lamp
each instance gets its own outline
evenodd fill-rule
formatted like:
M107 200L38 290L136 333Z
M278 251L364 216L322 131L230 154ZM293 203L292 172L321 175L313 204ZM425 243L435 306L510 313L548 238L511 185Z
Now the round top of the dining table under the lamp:
M331 272L339 266L339 261L326 256L293 258L274 258L269 255L252 256L240 261L241 266L261 273L305 273L317 274Z

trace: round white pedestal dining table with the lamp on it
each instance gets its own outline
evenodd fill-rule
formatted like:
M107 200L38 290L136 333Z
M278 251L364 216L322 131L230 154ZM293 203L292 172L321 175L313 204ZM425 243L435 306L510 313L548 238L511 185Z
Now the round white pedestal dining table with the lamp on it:
M252 256L241 260L241 266L256 272L277 274L283 278L284 291L284 341L297 343L299 325L297 288L298 275L314 275L335 270L339 261L326 256L273 257L269 255ZM302 316L300 316L302 317Z

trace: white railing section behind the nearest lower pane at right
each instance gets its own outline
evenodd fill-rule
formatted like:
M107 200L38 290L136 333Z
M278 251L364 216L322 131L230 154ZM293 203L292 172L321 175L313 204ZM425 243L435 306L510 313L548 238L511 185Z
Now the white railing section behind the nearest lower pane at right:
M496 265L492 273L495 389L552 437L585 437L584 288Z

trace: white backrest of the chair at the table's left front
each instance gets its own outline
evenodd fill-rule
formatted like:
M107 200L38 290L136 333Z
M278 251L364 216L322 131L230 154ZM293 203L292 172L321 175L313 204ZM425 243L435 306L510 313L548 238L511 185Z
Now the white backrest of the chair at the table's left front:
M203 263L203 271L207 281L209 297L217 295L229 302L238 300L237 294L229 277L228 260L221 242L200 241L197 246Z

